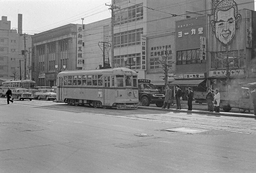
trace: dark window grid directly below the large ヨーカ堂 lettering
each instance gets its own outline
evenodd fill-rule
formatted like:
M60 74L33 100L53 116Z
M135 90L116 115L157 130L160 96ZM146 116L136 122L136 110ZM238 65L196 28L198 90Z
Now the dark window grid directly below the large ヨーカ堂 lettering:
M177 65L206 63L200 60L200 49L177 51Z

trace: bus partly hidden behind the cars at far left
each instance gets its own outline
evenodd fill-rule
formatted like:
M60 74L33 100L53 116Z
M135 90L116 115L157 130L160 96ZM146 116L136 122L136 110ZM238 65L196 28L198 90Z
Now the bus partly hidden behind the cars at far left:
M36 82L33 80L9 80L3 82L2 86L2 95L5 96L5 93L7 91L7 87L10 87L11 90L18 89L18 88L24 88L24 89L36 89Z

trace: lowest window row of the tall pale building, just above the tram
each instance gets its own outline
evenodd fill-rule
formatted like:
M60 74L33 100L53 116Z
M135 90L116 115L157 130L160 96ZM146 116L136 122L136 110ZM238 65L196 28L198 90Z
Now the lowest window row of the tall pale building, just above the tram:
M140 53L114 56L118 67L140 69Z

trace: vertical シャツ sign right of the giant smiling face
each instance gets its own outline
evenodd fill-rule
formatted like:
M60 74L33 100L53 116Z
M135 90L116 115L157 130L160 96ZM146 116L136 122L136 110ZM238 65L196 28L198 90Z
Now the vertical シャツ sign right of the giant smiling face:
M245 43L247 48L252 48L252 12L245 10Z

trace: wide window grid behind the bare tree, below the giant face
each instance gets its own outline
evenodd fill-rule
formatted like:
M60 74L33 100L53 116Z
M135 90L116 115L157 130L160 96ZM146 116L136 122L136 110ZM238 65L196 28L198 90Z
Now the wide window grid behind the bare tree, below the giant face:
M225 69L227 66L226 52L211 52L211 69ZM233 51L229 54L229 68L244 67L244 50Z

